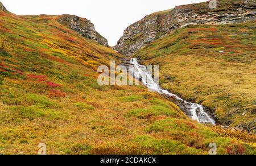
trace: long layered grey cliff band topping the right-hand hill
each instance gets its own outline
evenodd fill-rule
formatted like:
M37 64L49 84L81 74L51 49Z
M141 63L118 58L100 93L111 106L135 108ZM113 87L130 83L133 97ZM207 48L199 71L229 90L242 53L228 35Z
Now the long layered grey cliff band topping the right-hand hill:
M255 0L218 0L217 9L210 9L209 2L177 6L131 24L114 49L123 55L132 55L148 43L189 24L227 24L255 19Z

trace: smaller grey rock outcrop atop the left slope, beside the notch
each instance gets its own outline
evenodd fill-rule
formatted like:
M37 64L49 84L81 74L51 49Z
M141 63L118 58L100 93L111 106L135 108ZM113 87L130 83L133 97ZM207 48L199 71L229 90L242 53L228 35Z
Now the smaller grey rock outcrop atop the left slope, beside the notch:
M102 37L94 28L90 20L75 15L61 15L59 22L70 27L87 39L93 40L101 45L109 46L108 40Z

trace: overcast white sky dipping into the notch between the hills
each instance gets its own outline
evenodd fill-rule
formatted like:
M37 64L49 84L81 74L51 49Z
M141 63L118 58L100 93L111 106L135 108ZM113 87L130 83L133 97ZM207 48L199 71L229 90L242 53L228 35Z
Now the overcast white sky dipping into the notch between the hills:
M207 0L0 0L18 15L72 14L91 20L109 45L117 44L130 24L156 11Z

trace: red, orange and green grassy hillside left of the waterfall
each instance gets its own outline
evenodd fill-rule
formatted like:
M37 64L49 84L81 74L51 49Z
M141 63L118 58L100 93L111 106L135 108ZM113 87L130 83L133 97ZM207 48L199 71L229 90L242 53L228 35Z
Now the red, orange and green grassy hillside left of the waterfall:
M98 86L118 55L57 22L0 11L0 153L256 154L256 138L205 127L143 86Z

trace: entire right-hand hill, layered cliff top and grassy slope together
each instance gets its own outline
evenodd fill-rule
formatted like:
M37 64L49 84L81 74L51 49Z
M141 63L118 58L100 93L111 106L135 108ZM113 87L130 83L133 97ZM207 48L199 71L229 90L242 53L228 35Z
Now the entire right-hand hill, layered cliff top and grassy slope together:
M203 103L221 124L256 133L255 21L250 0L177 6L131 24L114 49L160 65L164 88Z

